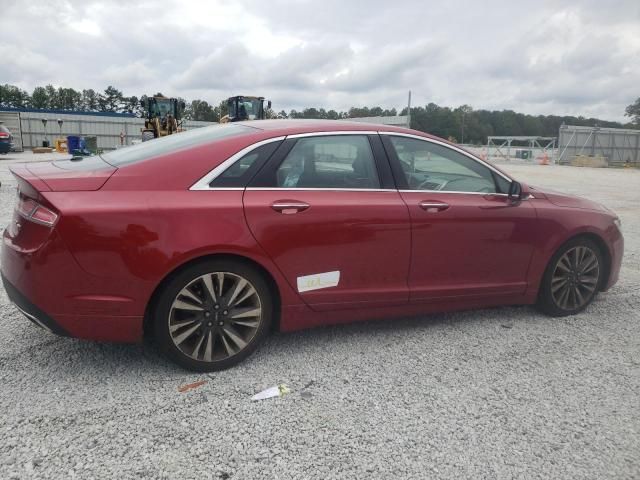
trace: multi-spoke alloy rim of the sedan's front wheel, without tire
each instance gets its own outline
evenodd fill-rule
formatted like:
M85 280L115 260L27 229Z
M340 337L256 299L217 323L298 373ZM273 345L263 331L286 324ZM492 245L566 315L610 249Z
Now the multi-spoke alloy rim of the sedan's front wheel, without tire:
M600 263L589 247L567 250L556 263L551 276L551 296L563 310L576 310L586 305L598 288Z

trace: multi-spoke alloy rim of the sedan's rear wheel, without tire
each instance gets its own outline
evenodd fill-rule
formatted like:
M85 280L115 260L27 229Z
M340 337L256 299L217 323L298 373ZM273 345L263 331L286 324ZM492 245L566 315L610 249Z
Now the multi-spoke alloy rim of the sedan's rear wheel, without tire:
M246 278L213 272L189 282L169 310L174 345L194 360L216 362L241 352L263 318L262 302Z

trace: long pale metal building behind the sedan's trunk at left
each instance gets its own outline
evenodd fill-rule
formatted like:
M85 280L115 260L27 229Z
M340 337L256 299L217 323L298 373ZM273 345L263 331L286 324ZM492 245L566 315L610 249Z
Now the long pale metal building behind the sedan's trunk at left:
M47 120L46 127L43 119ZM58 120L62 120L61 126L58 125ZM2 109L0 122L4 122L13 134L15 149L18 151L41 146L45 139L53 144L55 138L68 135L95 136L99 149L112 150L121 142L131 145L133 140L139 140L140 129L144 127L143 118L129 113L29 109ZM211 123L194 120L183 122L183 128L187 130L207 125Z

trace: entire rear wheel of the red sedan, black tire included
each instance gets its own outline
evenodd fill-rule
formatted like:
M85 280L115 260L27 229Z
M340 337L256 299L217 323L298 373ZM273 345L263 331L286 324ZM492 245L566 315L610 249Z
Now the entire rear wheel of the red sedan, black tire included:
M218 274L223 275L221 285ZM234 299L236 288L242 285L241 280L247 285ZM216 299L206 293L210 288ZM250 295L244 299L246 294ZM192 311L197 301L201 301L198 308L206 304L202 313ZM238 302L235 306L234 301ZM182 308L185 302L187 309ZM259 320L254 327L249 325L254 319L247 318L246 314L254 313L258 306ZM238 364L258 348L270 330L273 301L267 282L255 268L238 261L213 259L194 264L175 275L161 292L154 312L153 336L160 352L188 370L211 372ZM184 334L196 325L199 327L195 332L183 339ZM234 349L237 351L233 352ZM186 353L189 351L192 353Z

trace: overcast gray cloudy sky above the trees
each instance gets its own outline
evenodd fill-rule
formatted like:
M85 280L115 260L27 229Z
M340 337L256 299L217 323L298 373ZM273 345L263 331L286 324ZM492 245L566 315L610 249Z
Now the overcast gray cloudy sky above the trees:
M624 120L640 1L0 0L0 83Z

